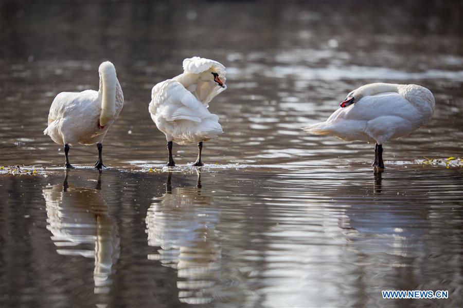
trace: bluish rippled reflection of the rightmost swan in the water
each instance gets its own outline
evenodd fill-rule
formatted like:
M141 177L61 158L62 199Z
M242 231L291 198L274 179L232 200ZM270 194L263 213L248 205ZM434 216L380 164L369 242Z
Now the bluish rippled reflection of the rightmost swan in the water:
M383 201L382 195L391 191L384 191L381 170L375 170L373 180L373 202L352 203L346 208L345 217L338 221L342 229L351 231L347 234L349 246L363 252L403 257L421 254L423 237L430 228L423 206L418 201L414 208L405 208L400 201Z

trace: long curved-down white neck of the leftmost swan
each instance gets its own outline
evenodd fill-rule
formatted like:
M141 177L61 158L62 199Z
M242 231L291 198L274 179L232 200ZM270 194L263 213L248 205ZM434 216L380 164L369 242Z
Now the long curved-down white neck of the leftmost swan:
M101 126L106 125L116 114L116 84L116 69L112 63L107 64L100 70L100 89L98 92L101 95Z

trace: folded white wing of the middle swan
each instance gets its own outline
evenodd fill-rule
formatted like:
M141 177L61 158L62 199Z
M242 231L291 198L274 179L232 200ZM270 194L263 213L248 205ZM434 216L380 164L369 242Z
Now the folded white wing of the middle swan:
M150 112L166 121L189 120L201 122L210 117L210 112L185 87L174 80L163 82L153 88Z

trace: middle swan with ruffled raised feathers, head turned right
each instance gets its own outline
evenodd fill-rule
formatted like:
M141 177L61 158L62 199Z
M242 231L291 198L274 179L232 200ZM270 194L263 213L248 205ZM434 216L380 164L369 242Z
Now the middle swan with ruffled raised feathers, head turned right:
M193 166L203 166L203 142L223 132L218 115L210 113L207 107L227 88L225 67L217 61L194 56L183 60L183 70L182 74L153 87L149 111L156 127L166 135L167 166L175 166L172 142L198 143L198 158Z

